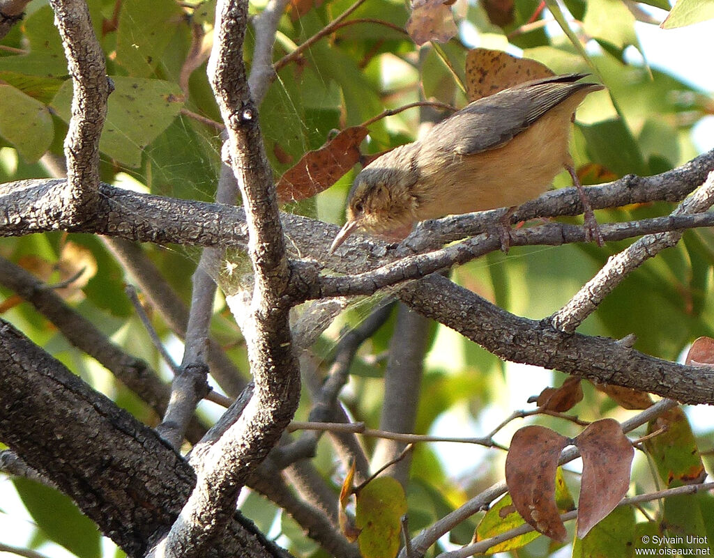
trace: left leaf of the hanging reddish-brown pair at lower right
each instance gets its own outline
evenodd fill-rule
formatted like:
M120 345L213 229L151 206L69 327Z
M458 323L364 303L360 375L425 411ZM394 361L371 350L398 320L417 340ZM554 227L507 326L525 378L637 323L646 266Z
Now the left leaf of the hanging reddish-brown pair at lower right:
M568 438L531 425L516 431L506 457L506 484L523 519L539 533L565 541L567 532L555 504L555 471Z

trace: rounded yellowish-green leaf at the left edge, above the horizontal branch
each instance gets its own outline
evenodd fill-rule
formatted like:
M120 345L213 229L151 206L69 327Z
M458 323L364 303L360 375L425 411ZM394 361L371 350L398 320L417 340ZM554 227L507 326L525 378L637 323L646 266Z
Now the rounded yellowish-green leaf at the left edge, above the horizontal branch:
M12 143L28 163L34 163L54 138L47 107L19 89L1 83L0 96L0 136Z

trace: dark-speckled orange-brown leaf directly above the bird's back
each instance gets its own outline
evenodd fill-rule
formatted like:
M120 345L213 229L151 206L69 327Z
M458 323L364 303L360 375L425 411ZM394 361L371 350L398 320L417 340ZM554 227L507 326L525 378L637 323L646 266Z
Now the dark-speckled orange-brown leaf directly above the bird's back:
M488 97L531 79L555 74L547 66L507 52L473 49L466 55L466 93L469 101Z

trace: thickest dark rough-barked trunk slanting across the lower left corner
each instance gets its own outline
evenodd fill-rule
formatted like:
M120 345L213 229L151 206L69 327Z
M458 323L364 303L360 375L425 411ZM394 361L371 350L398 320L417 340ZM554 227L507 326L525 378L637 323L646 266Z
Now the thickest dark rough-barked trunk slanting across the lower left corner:
M2 321L0 440L130 557L143 556L174 522L195 482L191 466L153 430ZM203 556L286 556L240 514L224 535Z

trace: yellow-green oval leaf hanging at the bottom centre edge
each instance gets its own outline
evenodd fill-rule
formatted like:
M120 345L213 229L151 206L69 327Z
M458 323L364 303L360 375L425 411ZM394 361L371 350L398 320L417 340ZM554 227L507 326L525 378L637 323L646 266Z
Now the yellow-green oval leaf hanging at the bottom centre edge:
M357 494L355 524L363 558L394 558L399 550L406 496L398 480L379 477Z

